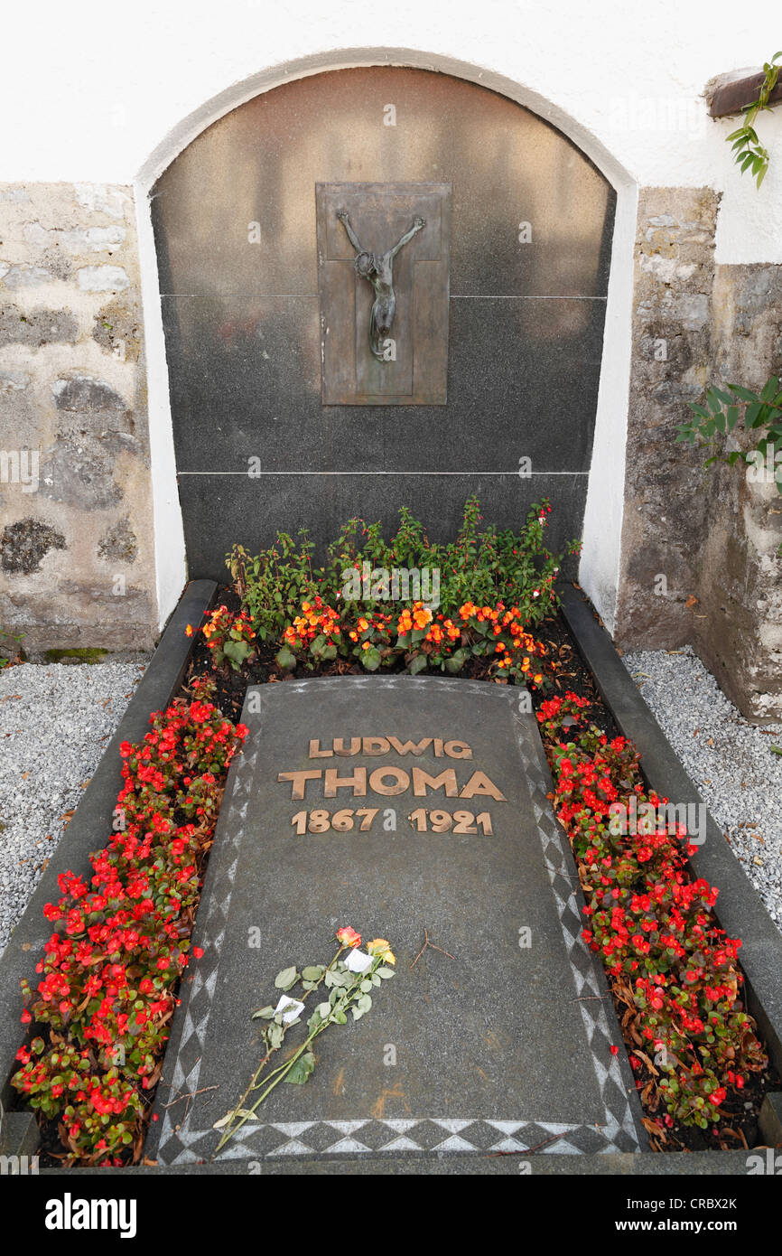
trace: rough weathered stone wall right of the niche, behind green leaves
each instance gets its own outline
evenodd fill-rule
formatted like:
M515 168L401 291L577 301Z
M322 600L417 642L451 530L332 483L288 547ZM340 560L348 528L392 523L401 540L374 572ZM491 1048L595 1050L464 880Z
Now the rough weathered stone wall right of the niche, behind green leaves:
M640 196L615 637L692 643L739 708L767 721L782 717L782 496L674 443L708 384L759 389L782 371L782 266L715 265L717 208L708 188Z

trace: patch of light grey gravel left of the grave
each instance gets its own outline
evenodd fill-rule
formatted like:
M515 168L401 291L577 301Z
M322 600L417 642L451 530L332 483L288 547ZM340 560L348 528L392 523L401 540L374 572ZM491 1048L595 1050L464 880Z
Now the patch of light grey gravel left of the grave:
M139 663L0 671L0 953L143 671Z

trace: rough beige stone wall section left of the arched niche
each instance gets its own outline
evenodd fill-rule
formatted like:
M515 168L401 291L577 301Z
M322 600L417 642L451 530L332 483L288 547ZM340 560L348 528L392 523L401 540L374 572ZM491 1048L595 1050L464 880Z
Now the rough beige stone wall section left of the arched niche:
M0 185L0 627L30 653L156 637L127 187Z

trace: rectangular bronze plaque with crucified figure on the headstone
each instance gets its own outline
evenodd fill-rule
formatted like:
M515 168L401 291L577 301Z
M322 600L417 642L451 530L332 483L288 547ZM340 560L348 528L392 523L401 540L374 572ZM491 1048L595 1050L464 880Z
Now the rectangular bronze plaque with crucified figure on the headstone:
M316 183L324 406L444 406L451 183Z

